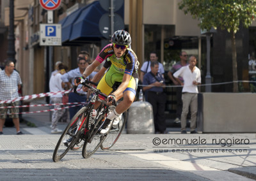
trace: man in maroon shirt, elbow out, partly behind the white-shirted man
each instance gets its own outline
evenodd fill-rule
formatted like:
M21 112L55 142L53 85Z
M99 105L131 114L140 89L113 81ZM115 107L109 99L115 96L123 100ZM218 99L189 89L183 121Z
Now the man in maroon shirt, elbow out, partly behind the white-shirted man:
M172 80L174 85L180 85L180 83L173 78L173 73L178 71L180 68L183 66L188 66L188 54L185 51L180 52L180 61L177 62L172 66L172 69L168 72L169 78ZM180 82L184 82L183 78L179 76ZM180 123L180 117L181 117L181 112L182 112L182 87L177 87L176 88L176 99L177 99L177 108L176 108L176 119L174 120L175 123Z

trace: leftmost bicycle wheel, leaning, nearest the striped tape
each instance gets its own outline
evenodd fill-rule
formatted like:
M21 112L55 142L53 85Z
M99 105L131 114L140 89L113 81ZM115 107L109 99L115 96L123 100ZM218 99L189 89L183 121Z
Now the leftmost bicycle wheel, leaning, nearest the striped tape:
M79 122L84 122L86 115L84 112L87 110L87 107L81 108L72 120L68 123L68 126L65 128L63 133L60 136L60 139L54 149L52 160L54 162L60 161L68 152L68 150L77 150L83 146L81 141L81 134L83 134L84 129L79 129Z

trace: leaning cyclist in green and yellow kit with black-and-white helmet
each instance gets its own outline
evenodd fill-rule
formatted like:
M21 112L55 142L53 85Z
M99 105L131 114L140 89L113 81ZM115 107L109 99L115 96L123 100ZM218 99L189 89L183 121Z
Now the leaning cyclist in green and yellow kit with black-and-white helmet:
M83 76L80 77L81 82L83 82L92 73L93 69L97 68L97 66L106 60L103 68L93 77L92 82L97 82L101 78L97 89L108 95L108 105L112 105L118 99L124 97L123 101L116 106L115 110L104 121L100 129L100 134L105 134L109 131L111 121L131 106L136 95L139 62L136 54L129 48L129 45L131 45L130 34L124 30L115 31L111 38L111 43L101 50L95 61L86 68ZM106 71L107 69L108 71ZM102 77L102 75L104 76ZM76 83L76 79L74 83L75 85L79 85L81 82ZM110 94L115 82L122 83L115 92ZM87 91L87 88L83 87L83 90ZM94 113L99 105L100 102L95 103ZM115 124L118 124L118 122L113 122L113 125Z

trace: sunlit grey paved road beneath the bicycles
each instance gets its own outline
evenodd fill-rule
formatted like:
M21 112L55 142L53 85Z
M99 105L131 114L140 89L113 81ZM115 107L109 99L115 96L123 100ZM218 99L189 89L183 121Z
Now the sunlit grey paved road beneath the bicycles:
M83 159L81 150L52 161L60 134L51 134L48 113L24 116L25 135L4 127L0 180L256 180L256 135L122 134L109 151ZM60 123L63 129L67 124ZM252 179L250 179L252 178Z

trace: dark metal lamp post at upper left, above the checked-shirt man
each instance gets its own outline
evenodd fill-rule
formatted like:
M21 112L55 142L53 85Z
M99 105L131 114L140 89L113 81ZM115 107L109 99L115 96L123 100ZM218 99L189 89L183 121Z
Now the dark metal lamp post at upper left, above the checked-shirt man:
M16 63L15 60L15 36L14 36L14 0L10 0L10 20L9 20L9 33L8 33L8 61L13 61L14 64Z

